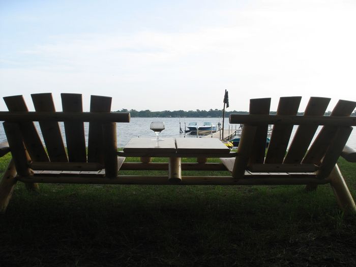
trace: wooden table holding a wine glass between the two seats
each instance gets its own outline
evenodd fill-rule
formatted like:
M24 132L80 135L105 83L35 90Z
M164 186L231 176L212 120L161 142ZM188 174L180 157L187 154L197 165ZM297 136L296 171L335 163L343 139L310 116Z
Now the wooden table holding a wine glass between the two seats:
M153 138L132 138L124 147L125 156L140 157L141 162L151 161L151 157L167 157L168 179L172 182L182 181L181 158L197 158L205 163L206 158L225 157L229 148L217 138L170 138L163 141Z

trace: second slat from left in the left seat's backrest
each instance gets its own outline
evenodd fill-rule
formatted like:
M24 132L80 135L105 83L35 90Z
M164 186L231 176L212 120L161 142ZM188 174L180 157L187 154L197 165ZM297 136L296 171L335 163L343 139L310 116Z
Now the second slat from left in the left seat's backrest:
M55 111L51 93L32 94L36 111ZM68 162L60 126L57 122L39 122L50 161Z

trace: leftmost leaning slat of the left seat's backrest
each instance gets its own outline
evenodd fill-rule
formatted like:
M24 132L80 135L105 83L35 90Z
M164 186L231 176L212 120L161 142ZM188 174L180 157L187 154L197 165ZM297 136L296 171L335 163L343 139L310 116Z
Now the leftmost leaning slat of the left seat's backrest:
M27 112L28 108L22 96L4 97L9 111ZM33 122L18 123L23 142L31 159L48 161L48 156Z

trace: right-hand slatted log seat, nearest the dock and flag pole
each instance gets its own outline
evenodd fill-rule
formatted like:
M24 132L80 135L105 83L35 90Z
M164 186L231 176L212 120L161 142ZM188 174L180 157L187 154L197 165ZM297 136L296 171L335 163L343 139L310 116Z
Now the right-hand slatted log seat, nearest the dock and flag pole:
M356 162L356 151L345 146L356 125L356 117L350 116L356 102L340 100L331 115L324 116L329 98L310 98L304 115L296 115L300 101L301 97L282 97L277 114L269 115L270 98L251 99L249 114L230 115L231 124L244 124L238 156L221 160L239 184L307 185L308 190L330 184L341 209L354 212L355 202L336 162L340 155ZM274 127L265 151L268 125ZM319 126L323 127L312 141Z

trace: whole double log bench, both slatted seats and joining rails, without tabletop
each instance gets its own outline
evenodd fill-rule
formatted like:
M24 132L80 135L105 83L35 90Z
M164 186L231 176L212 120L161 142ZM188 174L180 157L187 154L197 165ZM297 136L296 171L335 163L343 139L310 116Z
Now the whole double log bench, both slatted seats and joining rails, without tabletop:
M324 116L327 98L311 98L304 115L296 115L300 97L281 98L276 115L269 115L271 99L252 99L250 114L232 114L230 123L244 124L237 153L227 153L222 163L207 163L217 157L203 149L151 155L148 151L117 152L117 122L129 122L129 113L110 112L111 98L92 96L90 112L82 112L79 94L62 94L62 112L55 112L51 94L34 94L36 111L28 111L22 96L5 97L9 111L0 112L7 143L0 144L0 156L9 151L12 160L0 182L0 211L5 212L17 181L28 189L37 183L155 184L155 185L317 185L331 184L343 210L355 211L355 203L336 165L342 155L356 162L356 152L345 148L356 125L350 114L356 102L340 100L331 116ZM39 122L44 144L34 122ZM64 122L66 145L58 122ZM89 122L87 147L83 122ZM268 125L274 125L265 151ZM299 125L288 146L293 127ZM323 126L318 130L319 126ZM315 133L316 139L312 142ZM202 138L203 139L203 138ZM310 143L312 145L309 147ZM205 147L210 150L210 147ZM126 156L142 162L124 162ZM168 157L169 163L150 162L150 157ZM196 163L181 163L181 157L196 157ZM174 168L172 168L172 166ZM166 170L167 175L123 175L118 170ZM225 176L184 176L183 170L230 170ZM179 172L178 174L172 171ZM171 179L173 177L179 179ZM168 179L170 178L170 179ZM172 182L173 181L173 182Z

